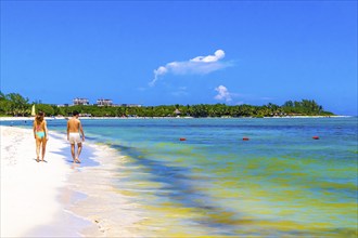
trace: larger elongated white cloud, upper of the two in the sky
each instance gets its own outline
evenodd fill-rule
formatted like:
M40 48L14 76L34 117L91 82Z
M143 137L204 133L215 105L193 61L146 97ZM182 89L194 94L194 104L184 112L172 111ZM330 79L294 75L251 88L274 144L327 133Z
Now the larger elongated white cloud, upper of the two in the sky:
M222 50L217 50L214 55L196 56L186 62L171 62L159 66L154 70L154 79L149 83L153 87L159 77L166 74L174 75L206 75L230 66L229 63L220 62L225 57Z

